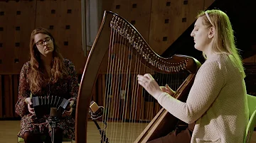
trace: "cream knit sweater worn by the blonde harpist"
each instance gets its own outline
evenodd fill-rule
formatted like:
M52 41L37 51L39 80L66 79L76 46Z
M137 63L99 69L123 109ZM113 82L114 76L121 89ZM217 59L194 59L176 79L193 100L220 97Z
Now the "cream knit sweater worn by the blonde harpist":
M183 122L196 122L191 142L242 143L249 119L245 81L233 56L214 55L196 74L186 103L168 93L156 100Z

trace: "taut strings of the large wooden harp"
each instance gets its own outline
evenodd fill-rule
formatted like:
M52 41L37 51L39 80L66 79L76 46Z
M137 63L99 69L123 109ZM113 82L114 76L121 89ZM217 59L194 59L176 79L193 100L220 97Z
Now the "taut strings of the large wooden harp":
M128 29L127 26L123 22L119 28L110 30L105 114L102 120L102 129L109 142L133 142L161 108L157 101L139 86L137 74L151 73L159 86L168 84L174 90L181 85L178 84L178 74L156 73L140 62L142 55L139 51L132 50L133 45L129 43L126 35L120 34L119 29ZM128 33L136 38L133 30ZM137 42L144 44L142 40L137 39ZM107 127L104 122L107 122Z

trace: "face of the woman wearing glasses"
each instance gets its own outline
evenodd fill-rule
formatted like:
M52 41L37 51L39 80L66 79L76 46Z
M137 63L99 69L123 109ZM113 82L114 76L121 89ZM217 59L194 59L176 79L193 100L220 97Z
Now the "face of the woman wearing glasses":
M51 55L53 53L53 40L49 35L38 33L34 36L34 40L41 55L47 57L47 55Z

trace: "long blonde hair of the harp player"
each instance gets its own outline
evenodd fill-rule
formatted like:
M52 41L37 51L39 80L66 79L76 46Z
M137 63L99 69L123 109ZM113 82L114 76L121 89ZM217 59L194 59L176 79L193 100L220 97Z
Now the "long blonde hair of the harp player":
M210 23L206 16L206 12L210 18ZM213 37L213 52L216 54L227 54L233 55L235 59L235 65L237 65L238 69L242 73L242 76L245 78L245 71L242 65L242 59L238 52L238 49L235 47L235 39L233 28L230 23L230 19L227 14L223 11L213 9L208 11L201 11L196 18L203 18L203 25L206 25L208 28L215 28L215 36ZM207 58L203 53L203 57Z

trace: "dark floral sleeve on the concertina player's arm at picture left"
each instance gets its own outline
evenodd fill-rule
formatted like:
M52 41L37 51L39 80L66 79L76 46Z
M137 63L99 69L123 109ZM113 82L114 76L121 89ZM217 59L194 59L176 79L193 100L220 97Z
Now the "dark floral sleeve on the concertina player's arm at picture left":
M28 106L25 99L30 96L30 89L28 84L28 62L23 64L19 77L18 85L18 101L15 105L15 113L23 117L28 114Z

